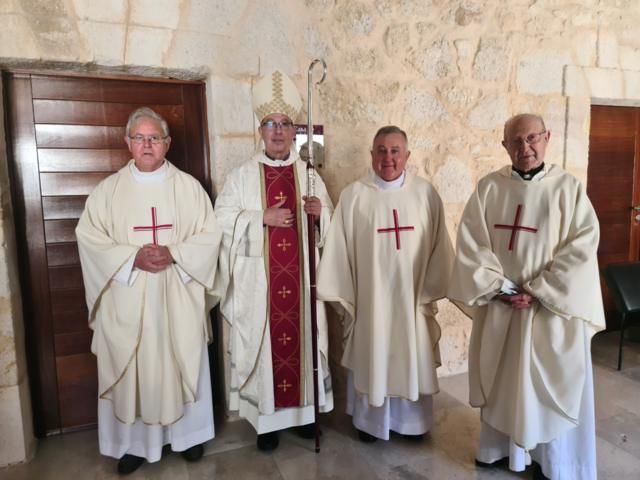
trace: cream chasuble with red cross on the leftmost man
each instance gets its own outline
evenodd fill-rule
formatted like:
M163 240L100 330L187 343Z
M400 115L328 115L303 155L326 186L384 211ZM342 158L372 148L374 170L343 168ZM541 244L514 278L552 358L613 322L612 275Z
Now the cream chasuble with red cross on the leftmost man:
M221 229L193 177L166 162L163 181L140 183L132 163L94 189L76 229L91 349L99 397L120 422L171 425L197 400ZM175 264L114 280L149 243L167 246Z

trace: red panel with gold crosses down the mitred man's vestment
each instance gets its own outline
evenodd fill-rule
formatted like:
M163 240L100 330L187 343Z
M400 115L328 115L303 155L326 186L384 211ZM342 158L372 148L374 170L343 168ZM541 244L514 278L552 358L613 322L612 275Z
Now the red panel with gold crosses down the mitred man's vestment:
M304 284L294 166L262 164L262 181L264 205L272 207L284 199L282 208L294 214L291 226L267 228L265 251L275 407L298 407L304 397Z

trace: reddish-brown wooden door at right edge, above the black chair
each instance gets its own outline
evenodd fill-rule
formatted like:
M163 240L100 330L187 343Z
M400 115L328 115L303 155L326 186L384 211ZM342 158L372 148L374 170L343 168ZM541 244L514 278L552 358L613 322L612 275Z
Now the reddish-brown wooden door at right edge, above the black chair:
M640 260L640 108L591 107L587 194L600 221L600 269ZM607 328L618 325L603 285Z

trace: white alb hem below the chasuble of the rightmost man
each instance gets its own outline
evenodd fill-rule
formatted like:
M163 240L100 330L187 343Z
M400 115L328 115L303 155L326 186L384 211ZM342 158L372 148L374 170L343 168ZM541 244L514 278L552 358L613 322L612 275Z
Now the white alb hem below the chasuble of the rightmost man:
M590 339L586 342L585 385L578 416L580 424L551 442L538 444L526 452L507 435L482 422L476 454L478 460L493 463L509 457L509 468L518 472L530 465L533 459L551 480L595 480L598 477Z

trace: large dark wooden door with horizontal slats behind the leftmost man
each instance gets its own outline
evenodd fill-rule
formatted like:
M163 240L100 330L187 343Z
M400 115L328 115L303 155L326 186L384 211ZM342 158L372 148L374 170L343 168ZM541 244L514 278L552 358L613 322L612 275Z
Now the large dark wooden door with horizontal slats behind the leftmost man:
M21 267L36 434L96 423L75 227L87 195L126 164L131 111L168 122L167 158L210 191L204 84L8 72L7 147Z

